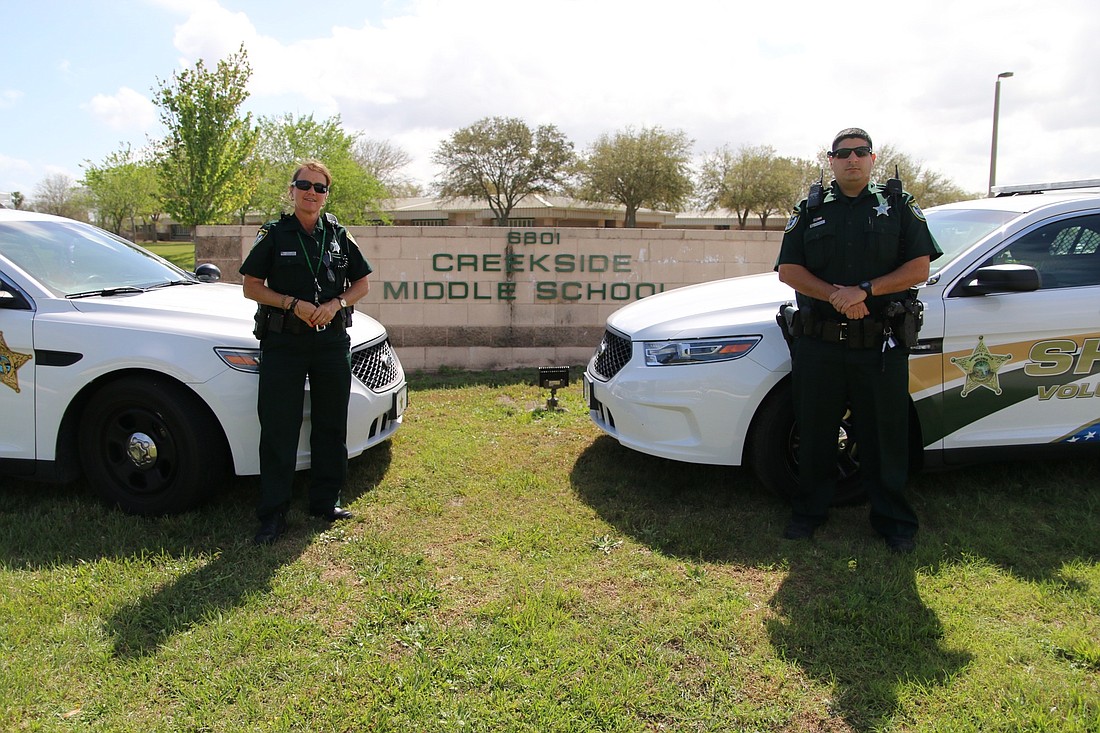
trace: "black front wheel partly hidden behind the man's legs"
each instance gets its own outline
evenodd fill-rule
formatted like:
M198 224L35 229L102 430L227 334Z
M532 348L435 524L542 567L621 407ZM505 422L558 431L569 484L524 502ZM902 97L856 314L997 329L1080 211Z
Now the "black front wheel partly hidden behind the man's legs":
M834 505L866 499L859 486L858 447L851 435L851 423L845 415L837 428ZM748 459L762 484L784 501L791 500L799 488L799 430L790 382L780 385L760 405L749 433Z

